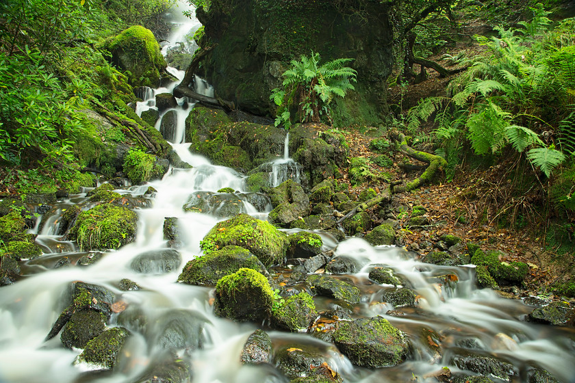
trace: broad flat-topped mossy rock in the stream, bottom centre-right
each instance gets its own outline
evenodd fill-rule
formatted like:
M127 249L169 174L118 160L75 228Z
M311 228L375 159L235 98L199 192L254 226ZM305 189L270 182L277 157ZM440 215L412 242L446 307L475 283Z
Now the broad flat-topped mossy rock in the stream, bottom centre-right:
M359 367L379 368L405 360L409 349L403 332L383 317L340 321L333 341Z

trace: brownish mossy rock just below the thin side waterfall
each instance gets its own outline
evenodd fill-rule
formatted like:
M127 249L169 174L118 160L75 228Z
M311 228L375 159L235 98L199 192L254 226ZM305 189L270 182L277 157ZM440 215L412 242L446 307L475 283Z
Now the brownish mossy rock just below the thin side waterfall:
M285 181L269 192L274 209L270 211L269 220L276 224L291 224L298 217L309 215L309 198L303 187L292 180Z

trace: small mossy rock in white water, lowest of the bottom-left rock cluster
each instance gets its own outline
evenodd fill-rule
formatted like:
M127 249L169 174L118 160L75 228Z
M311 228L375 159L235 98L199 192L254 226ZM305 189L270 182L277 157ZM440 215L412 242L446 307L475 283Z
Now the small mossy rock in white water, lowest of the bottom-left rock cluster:
M128 336L129 331L123 327L114 327L102 332L86 344L84 351L75 360L75 364L86 362L90 365L97 365L101 369L113 369Z

